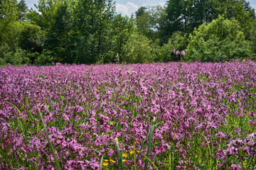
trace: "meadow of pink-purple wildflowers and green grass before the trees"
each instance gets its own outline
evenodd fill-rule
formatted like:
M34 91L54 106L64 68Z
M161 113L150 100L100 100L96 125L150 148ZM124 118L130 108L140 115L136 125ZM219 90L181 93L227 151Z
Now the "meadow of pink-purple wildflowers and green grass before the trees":
M250 61L3 67L0 169L256 169L255 114Z

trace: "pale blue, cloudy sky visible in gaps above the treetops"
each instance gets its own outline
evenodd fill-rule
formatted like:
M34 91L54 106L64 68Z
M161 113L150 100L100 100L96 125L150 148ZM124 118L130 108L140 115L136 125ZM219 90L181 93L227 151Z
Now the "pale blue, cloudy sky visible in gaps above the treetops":
M37 4L38 0L25 0L29 8L34 8L33 4ZM114 0L113 0L114 1ZM167 0L115 0L117 13L122 13L122 15L131 16L132 13L137 11L141 6L152 6L152 5L162 5L166 4ZM256 0L249 0L252 8L256 10Z

